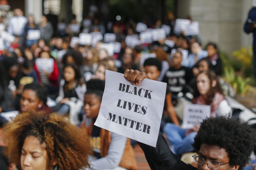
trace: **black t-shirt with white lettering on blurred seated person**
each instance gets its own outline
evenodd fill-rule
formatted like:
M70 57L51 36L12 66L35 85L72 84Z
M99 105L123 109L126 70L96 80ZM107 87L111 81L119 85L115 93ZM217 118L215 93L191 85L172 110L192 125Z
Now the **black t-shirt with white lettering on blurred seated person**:
M170 67L163 77L163 82L168 84L172 94L177 95L193 77L194 75L190 68L181 66L178 70L175 70L174 67Z

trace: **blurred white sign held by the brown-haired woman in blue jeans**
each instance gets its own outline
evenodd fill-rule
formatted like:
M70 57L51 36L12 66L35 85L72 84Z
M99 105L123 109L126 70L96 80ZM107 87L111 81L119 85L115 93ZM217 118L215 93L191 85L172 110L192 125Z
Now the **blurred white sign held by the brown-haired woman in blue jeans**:
M200 123L211 115L210 105L185 105L183 113L182 128L192 129L194 124L200 126Z

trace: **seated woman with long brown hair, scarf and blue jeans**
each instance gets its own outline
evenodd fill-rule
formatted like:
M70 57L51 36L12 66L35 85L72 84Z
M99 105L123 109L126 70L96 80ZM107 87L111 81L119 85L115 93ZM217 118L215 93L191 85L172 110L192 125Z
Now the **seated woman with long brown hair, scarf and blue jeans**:
M196 90L192 103L211 106L211 117L216 115L227 115L231 111L222 89L217 81L214 71L200 72L196 77ZM192 129L183 129L173 123L167 123L163 127L167 139L174 153L182 154L192 152L191 146L199 127L195 125Z

